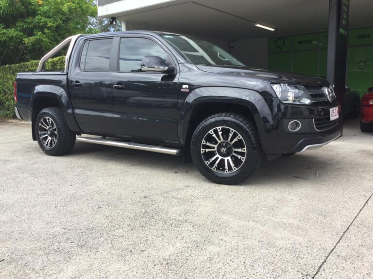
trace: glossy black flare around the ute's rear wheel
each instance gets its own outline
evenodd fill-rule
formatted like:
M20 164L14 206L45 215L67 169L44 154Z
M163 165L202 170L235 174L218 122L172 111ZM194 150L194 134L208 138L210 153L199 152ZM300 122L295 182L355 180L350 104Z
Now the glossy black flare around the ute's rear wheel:
M30 119L34 123L34 104L35 100L38 98L43 98L43 97L48 97L48 98L53 98L58 101L59 107L62 110L65 120L68 124L68 127L70 130L74 131L75 133L81 133L81 129L76 122L76 119L73 115L73 109L72 105L70 102L70 99L68 98L68 93L59 86L56 85L37 85L35 86L33 92L31 93L31 98L30 98ZM33 129L33 138L34 138L34 129Z

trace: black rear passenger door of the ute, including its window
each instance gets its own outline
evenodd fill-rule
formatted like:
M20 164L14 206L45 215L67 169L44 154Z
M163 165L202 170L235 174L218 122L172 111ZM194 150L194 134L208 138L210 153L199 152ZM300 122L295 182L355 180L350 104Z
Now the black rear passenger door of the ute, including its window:
M113 41L113 37L86 39L74 53L69 93L75 117L84 132L113 132Z

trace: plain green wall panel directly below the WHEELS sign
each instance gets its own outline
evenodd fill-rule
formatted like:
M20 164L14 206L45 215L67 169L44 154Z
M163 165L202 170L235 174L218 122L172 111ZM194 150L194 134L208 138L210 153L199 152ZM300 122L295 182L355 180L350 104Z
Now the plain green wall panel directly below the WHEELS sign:
M317 50L294 52L293 72L317 76Z

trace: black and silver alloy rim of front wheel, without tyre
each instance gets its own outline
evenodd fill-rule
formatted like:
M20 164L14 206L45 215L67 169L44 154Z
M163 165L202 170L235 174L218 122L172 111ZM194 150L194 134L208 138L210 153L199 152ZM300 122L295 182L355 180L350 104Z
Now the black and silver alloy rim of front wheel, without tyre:
M218 173L237 171L247 157L242 136L229 127L211 129L202 140L201 155L204 163Z

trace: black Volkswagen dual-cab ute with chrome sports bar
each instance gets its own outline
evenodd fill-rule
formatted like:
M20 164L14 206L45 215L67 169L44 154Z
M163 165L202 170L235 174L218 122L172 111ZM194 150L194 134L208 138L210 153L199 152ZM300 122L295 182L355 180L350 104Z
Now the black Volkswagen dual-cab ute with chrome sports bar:
M68 47L65 70L45 62ZM246 67L203 40L163 32L75 35L18 73L18 118L47 155L75 140L193 159L236 184L269 160L339 138L340 107L322 78ZM82 137L82 134L98 137ZM78 135L78 137L77 137Z

